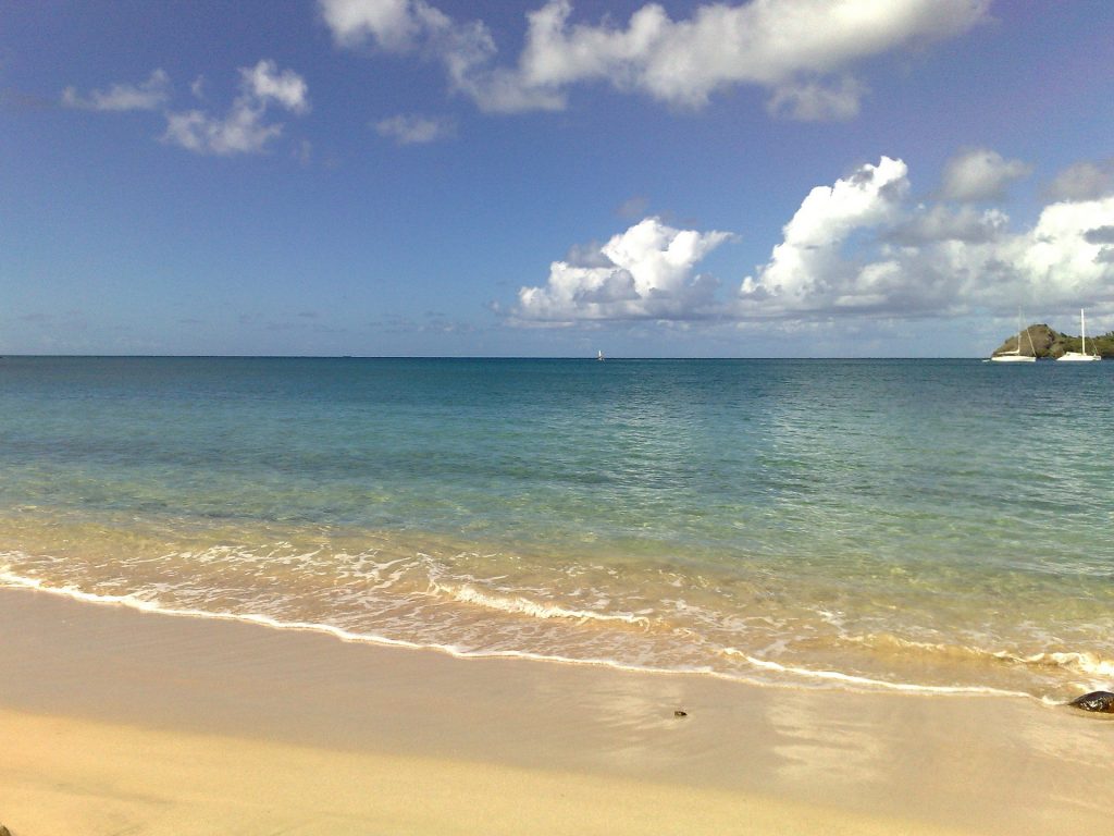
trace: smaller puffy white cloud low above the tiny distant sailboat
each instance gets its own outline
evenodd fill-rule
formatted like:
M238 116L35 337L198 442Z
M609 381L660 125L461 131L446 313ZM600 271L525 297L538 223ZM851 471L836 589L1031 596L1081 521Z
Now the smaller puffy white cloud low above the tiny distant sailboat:
M717 282L696 264L731 237L676 230L647 217L577 261L555 261L544 286L518 292L520 322L697 319L709 314Z

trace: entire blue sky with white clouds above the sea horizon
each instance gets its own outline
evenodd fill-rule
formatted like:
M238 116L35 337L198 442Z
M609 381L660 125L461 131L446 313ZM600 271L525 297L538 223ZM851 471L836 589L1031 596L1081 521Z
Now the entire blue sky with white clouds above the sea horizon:
M1114 329L1107 0L13 0L0 354Z

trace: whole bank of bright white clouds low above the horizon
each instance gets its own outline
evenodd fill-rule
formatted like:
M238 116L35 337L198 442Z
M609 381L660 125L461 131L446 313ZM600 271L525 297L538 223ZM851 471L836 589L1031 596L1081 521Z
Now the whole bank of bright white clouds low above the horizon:
M726 293L697 268L731 233L645 218L595 251L577 250L578 260L554 262L544 285L519 291L508 319L821 321L1114 305L1114 195L1049 204L1032 229L1012 233L999 208L926 205L910 193L905 162L885 156L817 186L769 260Z

